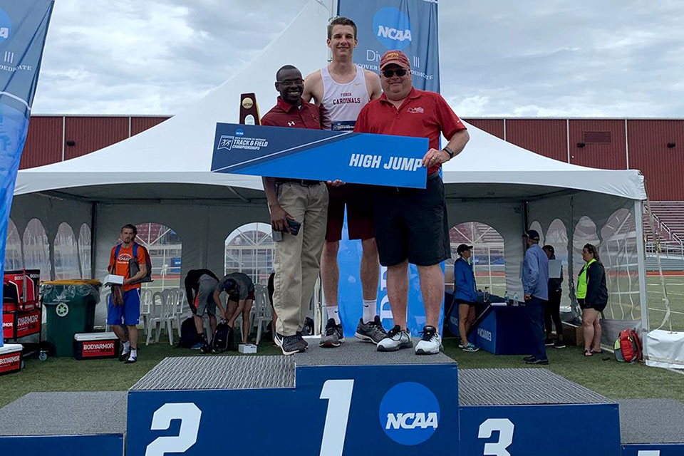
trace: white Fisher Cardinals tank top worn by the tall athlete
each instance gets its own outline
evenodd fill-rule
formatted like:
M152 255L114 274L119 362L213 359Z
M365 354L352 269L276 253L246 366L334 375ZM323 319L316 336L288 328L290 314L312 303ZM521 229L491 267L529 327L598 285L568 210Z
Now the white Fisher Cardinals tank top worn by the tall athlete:
M356 66L356 77L348 83L337 83L330 76L328 67L321 68L323 98L321 105L326 108L331 120L331 130L353 130L361 108L371 100L366 87L366 74Z

